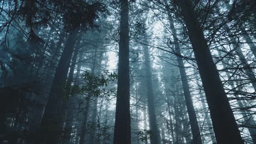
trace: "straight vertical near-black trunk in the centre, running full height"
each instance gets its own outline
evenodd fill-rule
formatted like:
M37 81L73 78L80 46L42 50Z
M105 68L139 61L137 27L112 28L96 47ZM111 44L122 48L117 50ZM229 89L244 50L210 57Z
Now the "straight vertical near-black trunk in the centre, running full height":
M130 76L129 76L129 2L120 0L119 63L114 144L131 143Z

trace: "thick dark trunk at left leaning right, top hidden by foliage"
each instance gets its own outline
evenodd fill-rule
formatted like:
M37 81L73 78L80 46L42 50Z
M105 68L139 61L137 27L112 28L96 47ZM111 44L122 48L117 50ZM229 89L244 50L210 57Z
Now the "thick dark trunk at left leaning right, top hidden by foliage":
M78 28L72 31L67 39L65 48L62 52L60 62L54 75L53 85L49 95L48 102L45 107L42 122L40 124L41 134L38 143L56 144L62 131L62 113L61 103L63 86L66 84L68 68L71 62L74 50L75 40L78 35Z

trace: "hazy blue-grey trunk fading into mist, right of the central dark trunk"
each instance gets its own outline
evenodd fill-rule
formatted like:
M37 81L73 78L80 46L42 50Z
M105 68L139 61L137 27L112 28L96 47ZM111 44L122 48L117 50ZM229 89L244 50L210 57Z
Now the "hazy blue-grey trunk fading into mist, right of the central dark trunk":
M144 45L144 55L145 55L145 72L147 80L147 98L148 98L148 115L149 115L149 129L152 131L152 136L150 136L150 143L160 144L158 123L156 122L155 115L155 100L154 100L154 91L152 86L152 74L150 69L150 58L148 46Z

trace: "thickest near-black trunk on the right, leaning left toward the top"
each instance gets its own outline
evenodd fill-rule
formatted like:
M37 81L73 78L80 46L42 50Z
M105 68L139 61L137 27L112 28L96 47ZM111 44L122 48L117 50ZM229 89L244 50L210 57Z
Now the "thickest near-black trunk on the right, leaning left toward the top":
M190 0L177 1L182 10L189 38L193 46L197 66L205 89L207 103L211 112L214 133L218 143L244 143L232 113L228 97L220 81L216 65L203 31L194 15Z

